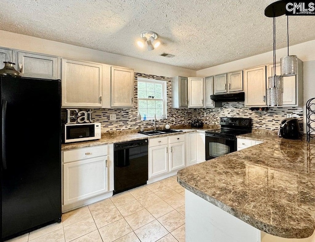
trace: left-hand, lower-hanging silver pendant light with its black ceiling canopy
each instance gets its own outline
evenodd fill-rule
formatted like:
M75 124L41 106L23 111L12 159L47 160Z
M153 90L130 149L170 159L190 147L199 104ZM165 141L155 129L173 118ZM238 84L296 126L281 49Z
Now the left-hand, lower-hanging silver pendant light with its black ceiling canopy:
M283 4L283 1L278 1ZM283 77L277 75L276 70L276 17L283 15L283 5L277 5L278 2L270 4L265 9L265 15L273 18L273 57L274 57L274 74L268 78L267 106L283 105ZM280 9L280 10L279 10Z

